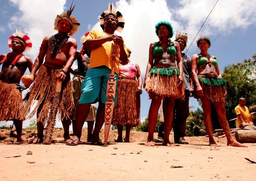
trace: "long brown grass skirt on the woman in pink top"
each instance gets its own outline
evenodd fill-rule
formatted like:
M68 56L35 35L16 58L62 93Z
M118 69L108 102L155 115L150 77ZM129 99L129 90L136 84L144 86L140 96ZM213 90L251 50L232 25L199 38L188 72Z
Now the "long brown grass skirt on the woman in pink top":
M118 79L117 100L112 124L138 126L140 124L140 94L138 83L131 79Z

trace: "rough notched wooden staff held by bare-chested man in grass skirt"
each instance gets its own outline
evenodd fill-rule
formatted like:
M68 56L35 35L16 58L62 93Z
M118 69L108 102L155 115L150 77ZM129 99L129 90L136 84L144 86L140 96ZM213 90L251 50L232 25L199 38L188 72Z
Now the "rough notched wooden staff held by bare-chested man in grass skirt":
M58 80L55 93L53 94L52 104L50 113L47 120L46 133L44 137L43 144L51 144L51 137L53 133L53 128L56 122L56 115L60 104L60 92L61 92L61 84L62 82Z

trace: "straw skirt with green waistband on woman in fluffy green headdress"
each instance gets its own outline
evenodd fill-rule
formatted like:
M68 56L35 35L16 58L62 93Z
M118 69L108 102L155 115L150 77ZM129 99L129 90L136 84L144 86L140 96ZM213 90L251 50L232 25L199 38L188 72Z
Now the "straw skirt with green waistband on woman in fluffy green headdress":
M177 87L179 69L177 67L154 67L146 79L145 90L150 99L166 97L183 98L183 85Z

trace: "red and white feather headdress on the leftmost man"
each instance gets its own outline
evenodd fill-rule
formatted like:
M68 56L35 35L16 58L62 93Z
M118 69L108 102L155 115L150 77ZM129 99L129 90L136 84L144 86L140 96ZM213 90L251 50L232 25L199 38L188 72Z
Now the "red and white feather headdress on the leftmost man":
M22 32L20 31L20 29L16 29L16 33L12 34L12 35L9 37L9 39L8 39L8 46L9 46L9 49L12 51L12 49L11 49L11 41L12 41L13 39L15 39L15 38L18 39L18 40L20 40L20 42L23 44L23 46L24 46L24 52L29 53L30 50L31 50L31 48L32 48L32 42L31 42L29 36L28 36L28 35L25 35L24 33L22 33Z

